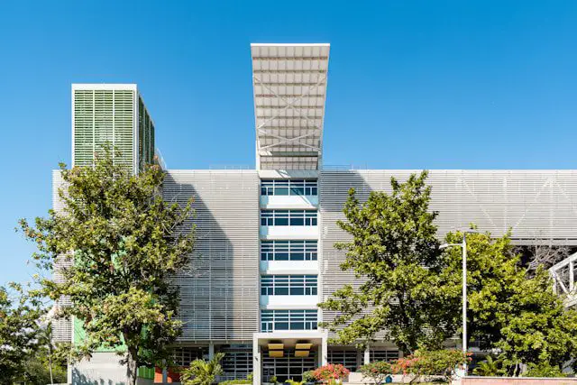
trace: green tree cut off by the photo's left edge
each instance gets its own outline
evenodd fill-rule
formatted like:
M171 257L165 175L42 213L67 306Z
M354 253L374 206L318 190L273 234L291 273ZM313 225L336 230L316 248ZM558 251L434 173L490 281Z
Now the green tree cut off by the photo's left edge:
M0 287L0 384L12 384L38 349L39 320L45 314L41 300L23 286Z

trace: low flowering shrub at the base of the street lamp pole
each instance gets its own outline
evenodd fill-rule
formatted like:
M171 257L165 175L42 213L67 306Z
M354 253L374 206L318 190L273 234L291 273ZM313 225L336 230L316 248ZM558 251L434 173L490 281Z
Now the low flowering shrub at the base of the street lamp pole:
M433 376L440 376L444 383L451 383L456 368L471 361L470 354L453 349L441 349L435 351L417 350L415 353L404 358L399 358L393 365L393 371L403 375L412 375L410 383L415 383L426 377L431 380Z

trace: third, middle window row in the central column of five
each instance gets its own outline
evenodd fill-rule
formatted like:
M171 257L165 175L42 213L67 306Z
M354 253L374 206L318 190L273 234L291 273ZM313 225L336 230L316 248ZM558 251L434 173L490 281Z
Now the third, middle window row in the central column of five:
M261 261L316 261L317 241L261 241Z

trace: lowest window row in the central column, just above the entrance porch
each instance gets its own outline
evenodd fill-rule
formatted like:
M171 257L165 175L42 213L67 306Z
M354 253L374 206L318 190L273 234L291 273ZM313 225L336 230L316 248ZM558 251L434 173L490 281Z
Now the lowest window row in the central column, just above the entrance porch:
M261 310L261 332L316 330L316 310Z

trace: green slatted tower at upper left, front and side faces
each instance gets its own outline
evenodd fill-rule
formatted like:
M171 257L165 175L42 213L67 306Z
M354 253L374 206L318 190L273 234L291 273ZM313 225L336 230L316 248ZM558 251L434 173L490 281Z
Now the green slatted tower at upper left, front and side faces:
M92 166L106 142L120 151L115 161L130 170L153 162L154 124L135 88L87 87L73 89L73 94L73 166Z

